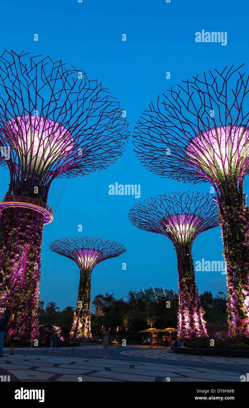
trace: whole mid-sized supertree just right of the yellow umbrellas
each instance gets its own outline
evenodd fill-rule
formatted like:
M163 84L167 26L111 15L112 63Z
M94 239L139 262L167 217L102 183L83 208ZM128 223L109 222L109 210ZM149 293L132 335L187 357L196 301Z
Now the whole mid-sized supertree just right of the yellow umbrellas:
M158 195L131 208L131 224L171 239L178 263L178 330L180 335L207 335L191 255L194 239L219 225L217 206L209 194Z

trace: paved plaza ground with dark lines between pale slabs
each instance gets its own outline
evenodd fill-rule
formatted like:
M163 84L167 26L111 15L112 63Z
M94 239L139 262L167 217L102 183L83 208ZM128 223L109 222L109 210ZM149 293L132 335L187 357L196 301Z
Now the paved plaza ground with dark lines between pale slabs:
M10 381L240 381L248 359L168 353L165 348L109 346L4 348L0 375Z

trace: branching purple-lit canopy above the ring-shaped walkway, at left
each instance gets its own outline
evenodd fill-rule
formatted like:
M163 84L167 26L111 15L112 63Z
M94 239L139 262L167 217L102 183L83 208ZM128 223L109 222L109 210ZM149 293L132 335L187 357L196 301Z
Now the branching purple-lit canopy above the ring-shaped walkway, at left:
M29 195L39 184L36 198L44 199L55 177L107 168L127 135L120 104L84 71L41 55L0 57L0 162L10 169L9 195Z

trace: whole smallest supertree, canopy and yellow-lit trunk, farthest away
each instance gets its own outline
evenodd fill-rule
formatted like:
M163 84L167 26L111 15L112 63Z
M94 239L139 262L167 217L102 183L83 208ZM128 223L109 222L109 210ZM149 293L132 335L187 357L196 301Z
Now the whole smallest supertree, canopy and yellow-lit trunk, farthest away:
M122 255L126 248L118 242L94 237L60 238L51 242L49 248L72 259L80 268L80 283L71 336L91 337L91 273L100 262Z

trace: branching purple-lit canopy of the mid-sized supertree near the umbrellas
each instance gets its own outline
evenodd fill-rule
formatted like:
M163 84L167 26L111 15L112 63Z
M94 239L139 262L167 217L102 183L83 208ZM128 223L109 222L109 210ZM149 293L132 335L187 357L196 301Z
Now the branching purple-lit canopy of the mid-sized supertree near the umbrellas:
M166 235L176 246L192 244L202 231L219 225L212 197L189 192L151 197L131 208L128 218L137 228Z

